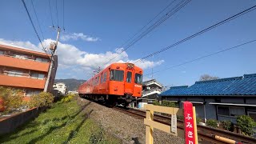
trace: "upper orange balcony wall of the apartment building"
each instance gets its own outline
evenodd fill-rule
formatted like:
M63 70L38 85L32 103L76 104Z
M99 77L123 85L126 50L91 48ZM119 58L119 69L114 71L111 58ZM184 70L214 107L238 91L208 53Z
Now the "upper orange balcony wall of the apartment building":
M49 62L37 62L31 59L13 58L6 55L0 55L0 66L48 72L49 65Z

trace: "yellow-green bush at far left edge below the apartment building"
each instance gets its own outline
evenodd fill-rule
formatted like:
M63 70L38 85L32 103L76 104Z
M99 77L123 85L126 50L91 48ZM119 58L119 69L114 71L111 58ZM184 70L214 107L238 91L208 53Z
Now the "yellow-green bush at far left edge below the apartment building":
M3 100L6 113L22 106L23 94L21 90L14 90L0 86L0 98Z

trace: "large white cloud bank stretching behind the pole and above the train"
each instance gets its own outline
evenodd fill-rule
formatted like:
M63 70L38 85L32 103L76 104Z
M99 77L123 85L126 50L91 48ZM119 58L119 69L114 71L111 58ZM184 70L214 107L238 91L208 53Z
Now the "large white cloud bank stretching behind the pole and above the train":
M54 42L52 39L46 39L43 41L46 47L49 47L50 42ZM26 49L31 50L41 50L41 46L32 44L31 42L12 42L0 38L0 43L8 44L13 43L15 46L26 47ZM128 54L124 51L122 54L119 54L123 49L116 49L114 52L107 51L106 53L101 54L90 54L86 51L79 50L78 47L58 42L58 49L56 51L58 55L58 69L61 70L70 70L70 73L79 73L85 71L86 73L91 73L92 70L98 70L98 66L102 68L109 66L112 62L131 62L135 63L136 66L141 67L142 69L152 68L154 66L161 65L163 60L158 62L147 61L147 60L133 60L130 59ZM114 60L110 61L110 58Z

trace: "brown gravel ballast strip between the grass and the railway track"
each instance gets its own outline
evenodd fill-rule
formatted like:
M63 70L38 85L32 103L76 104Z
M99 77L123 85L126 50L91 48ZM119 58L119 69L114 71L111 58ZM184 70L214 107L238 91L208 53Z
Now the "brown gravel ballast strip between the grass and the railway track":
M86 111L91 111L90 118L98 122L104 130L118 138L124 143L145 143L146 128L142 119L123 114L118 110L90 102L84 98L78 98L78 103L86 105ZM184 143L183 138L154 129L154 143Z

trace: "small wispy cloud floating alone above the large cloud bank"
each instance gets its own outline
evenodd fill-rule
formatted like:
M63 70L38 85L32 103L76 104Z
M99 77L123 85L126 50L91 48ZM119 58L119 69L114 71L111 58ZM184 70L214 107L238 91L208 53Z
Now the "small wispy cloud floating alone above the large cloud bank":
M100 38L94 38L94 37L91 37L89 35L85 35L82 33L62 34L60 39L62 41L82 39L83 41L86 41L86 42L97 42L100 40Z

